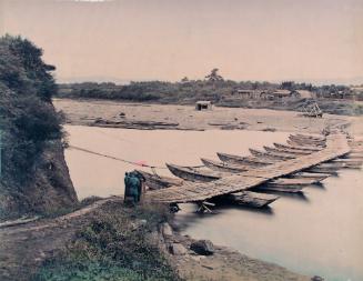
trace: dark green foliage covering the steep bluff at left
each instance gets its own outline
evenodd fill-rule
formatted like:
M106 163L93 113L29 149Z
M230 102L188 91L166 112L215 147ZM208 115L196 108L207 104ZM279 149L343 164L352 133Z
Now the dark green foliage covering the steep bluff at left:
M12 198L10 205L18 204L23 212L30 211L32 203L19 194L36 181L34 171L44 148L63 137L63 119L51 103L57 92L50 73L54 67L46 64L41 56L42 50L27 39L0 38L0 194Z

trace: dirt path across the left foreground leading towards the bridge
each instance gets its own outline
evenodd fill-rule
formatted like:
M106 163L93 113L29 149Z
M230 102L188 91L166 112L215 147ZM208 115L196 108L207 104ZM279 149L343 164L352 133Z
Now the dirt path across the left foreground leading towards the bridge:
M57 219L0 229L0 280L28 280L41 262L62 249L74 232L89 222L98 208L120 198L97 201L75 212Z

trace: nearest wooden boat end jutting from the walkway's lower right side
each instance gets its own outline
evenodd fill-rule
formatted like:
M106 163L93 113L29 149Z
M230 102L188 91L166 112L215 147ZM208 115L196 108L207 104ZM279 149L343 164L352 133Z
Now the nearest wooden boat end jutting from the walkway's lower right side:
M272 194L258 193L252 191L242 191L238 193L226 194L225 199L236 204L248 205L252 208L263 208L276 201L280 197Z

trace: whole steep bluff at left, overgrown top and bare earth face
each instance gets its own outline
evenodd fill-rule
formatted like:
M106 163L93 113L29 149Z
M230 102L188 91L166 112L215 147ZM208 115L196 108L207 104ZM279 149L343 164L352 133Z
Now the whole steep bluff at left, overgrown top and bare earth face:
M0 218L77 202L63 158L62 117L51 103L54 67L41 56L26 39L0 39Z

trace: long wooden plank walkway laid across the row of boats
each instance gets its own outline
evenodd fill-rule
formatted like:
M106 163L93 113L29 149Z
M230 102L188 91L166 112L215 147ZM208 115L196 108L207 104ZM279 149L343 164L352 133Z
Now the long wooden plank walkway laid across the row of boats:
M185 182L180 187L150 191L147 193L147 198L151 201L164 203L204 201L213 197L251 189L269 180L309 169L349 152L350 147L346 137L342 133L333 133L327 136L324 149L309 155L255 168L251 171L236 173L212 182Z

